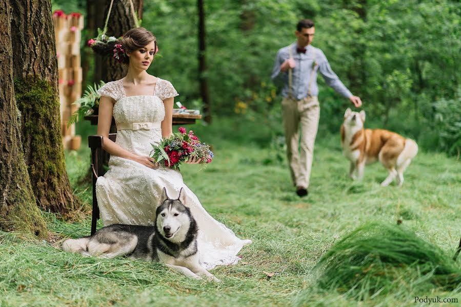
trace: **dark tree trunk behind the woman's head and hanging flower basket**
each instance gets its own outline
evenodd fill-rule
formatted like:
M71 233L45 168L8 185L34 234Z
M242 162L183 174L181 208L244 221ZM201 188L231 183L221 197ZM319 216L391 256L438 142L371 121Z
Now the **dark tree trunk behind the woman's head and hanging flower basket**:
M143 3L144 0L133 0L134 10L137 13L138 19L141 19L143 16ZM100 14L101 18L106 18L107 12L109 11L109 5L110 0L106 0L105 13L104 15ZM133 14L131 14L130 1L114 1L109 17L109 24L107 26L107 35L120 37L134 27L136 26ZM128 66L117 62L109 55L101 61L101 66L96 67L96 69L101 70L101 79L109 82L125 77L128 71Z

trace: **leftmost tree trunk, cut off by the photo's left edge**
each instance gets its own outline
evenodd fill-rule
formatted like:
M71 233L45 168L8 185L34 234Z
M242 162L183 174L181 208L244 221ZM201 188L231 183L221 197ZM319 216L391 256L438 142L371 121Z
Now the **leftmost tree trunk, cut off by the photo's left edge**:
M24 161L19 113L14 100L11 9L0 2L0 229L47 236Z

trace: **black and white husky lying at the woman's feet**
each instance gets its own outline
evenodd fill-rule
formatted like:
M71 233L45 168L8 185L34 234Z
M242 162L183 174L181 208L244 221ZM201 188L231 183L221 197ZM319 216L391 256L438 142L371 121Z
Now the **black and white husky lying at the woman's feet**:
M110 225L91 236L67 239L63 250L85 256L128 256L163 262L186 276L219 281L198 262L197 231L197 223L186 206L184 190L181 188L177 199L170 199L163 188L155 226Z

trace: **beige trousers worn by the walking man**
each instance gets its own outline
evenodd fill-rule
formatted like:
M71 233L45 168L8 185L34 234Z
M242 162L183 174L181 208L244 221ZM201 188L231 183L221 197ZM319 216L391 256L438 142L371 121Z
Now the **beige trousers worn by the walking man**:
M284 98L282 110L291 178L295 186L307 188L311 176L314 142L320 116L318 99L316 96L301 100ZM300 150L298 147L299 126L301 128Z

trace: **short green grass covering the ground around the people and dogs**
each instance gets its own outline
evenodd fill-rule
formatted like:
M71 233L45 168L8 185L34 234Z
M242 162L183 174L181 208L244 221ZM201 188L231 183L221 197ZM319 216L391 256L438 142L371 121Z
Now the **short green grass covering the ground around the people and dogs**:
M85 129L82 133L88 134L92 128ZM268 149L270 131L262 133L266 137L252 137L257 124L226 121L193 129L213 144L215 159L205 170L184 166L186 184L218 221L239 237L253 240L239 253L242 260L237 265L212 270L223 283L189 279L141 260L65 253L57 249L62 239L36 242L0 232L0 306L357 305L341 289L319 287L312 269L357 227L369 222L394 225L397 207L405 229L446 255L454 254L461 235L461 163L455 159L419 152L402 188L382 188L379 183L387 176L382 166L367 166L362 182L350 181L338 136L320 133L310 194L299 199L286 162L276 163L275 153ZM89 165L86 146L66 153L66 161L75 193L90 203L90 183L82 181ZM44 217L61 238L89 234L89 216L74 223L50 213ZM454 263L460 270L461 261ZM398 276L405 279L407 273ZM391 287L386 294L365 296L360 303L413 306L418 305L415 296L461 301L459 288L428 289L417 282L424 276L416 275L405 279L412 282L409 287ZM363 287L365 292L371 289L367 284Z

